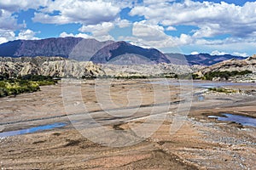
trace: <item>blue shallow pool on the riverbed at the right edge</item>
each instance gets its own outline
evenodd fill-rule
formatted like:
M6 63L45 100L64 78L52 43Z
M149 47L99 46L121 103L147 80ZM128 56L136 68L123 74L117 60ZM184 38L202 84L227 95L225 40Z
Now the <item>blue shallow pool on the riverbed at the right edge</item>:
M222 114L223 116L208 116L209 118L217 118L218 121L228 121L228 122L236 122L240 123L243 126L256 127L256 118L249 116L240 116L233 114Z

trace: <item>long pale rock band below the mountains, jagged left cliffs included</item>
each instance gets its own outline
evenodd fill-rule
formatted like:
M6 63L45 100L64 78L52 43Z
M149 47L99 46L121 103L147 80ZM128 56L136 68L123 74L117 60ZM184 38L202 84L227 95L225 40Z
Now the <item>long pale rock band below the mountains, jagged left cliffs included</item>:
M9 77L27 74L51 77L129 77L159 76L165 74L186 74L201 69L200 65L172 65L166 63L154 65L95 65L91 61L76 61L61 57L21 57L0 58L0 73Z

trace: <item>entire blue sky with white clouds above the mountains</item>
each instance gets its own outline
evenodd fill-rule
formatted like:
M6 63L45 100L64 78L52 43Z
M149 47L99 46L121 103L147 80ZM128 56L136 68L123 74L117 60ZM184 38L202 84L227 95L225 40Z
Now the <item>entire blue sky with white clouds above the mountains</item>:
M1 0L0 43L48 37L246 57L256 54L256 1Z

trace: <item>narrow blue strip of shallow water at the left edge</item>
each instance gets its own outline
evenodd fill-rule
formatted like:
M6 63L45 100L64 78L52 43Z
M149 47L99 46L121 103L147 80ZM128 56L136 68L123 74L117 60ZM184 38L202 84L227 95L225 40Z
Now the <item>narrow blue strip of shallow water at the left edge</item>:
M54 124L48 124L48 125L44 125L44 126L31 127L31 128L21 129L21 130L3 132L3 133L0 133L0 138L1 137L9 137L9 136L20 135L20 134L26 134L26 133L35 133L35 132L40 132L40 131L44 131L44 130L53 129L53 128L56 128L56 127L64 127L66 125L67 125L67 123L56 122Z

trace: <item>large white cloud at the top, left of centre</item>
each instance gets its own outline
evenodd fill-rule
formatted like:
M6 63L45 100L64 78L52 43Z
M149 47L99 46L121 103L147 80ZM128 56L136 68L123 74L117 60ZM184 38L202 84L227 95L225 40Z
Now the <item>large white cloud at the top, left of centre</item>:
M55 11L60 13L52 15ZM68 23L96 25L115 20L119 11L119 6L108 1L55 0L49 3L46 8L41 9L40 13L35 13L32 20L34 22L60 25Z

